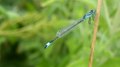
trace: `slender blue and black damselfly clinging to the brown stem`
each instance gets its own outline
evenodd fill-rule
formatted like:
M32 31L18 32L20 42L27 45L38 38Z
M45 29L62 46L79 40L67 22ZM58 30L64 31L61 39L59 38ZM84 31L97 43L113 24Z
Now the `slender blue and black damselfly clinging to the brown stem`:
M89 22L91 22L91 19L94 19L95 17L95 10L90 10L88 13L86 13L82 18L80 18L79 20L77 20L75 23L71 24L70 26L60 30L57 32L56 37L49 41L46 45L45 48L47 48L48 46L50 46L55 40L61 38L63 35L65 35L66 33L68 33L69 31L71 31L75 26L77 26L79 23L85 21L86 19L89 19Z

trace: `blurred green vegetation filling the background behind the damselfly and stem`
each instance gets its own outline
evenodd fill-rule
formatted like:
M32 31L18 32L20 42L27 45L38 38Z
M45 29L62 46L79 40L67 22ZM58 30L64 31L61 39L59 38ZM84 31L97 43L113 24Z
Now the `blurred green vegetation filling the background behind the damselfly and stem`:
M0 0L0 67L87 67L94 23L81 23L48 49L56 32L97 0ZM103 0L93 67L119 67L120 2Z

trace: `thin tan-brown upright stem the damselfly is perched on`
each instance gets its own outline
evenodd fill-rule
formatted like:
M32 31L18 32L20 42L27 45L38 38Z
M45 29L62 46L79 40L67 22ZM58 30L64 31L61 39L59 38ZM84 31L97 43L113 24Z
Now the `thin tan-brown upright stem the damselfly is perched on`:
M92 39L92 44L91 44L91 52L90 52L90 59L89 59L88 67L92 67L92 63L93 63L94 47L95 47L96 34L98 31L98 25L99 25L99 16L100 16L101 4L102 4L102 0L98 0L96 16L95 16L94 33L93 33L93 39Z

